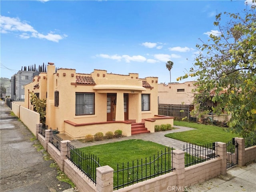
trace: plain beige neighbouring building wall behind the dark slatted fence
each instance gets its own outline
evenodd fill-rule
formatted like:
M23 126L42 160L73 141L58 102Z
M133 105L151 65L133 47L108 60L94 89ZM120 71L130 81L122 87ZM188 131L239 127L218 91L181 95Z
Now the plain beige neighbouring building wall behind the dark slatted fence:
M192 89L193 81L184 83L172 83L172 84L158 84L158 102L160 104L178 104L189 105L194 100L194 93ZM184 92L177 92L177 89L184 89Z

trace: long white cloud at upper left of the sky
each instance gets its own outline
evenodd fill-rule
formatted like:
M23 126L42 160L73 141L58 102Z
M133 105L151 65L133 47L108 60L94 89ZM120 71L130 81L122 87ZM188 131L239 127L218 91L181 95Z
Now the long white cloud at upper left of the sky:
M0 16L1 20L1 33L8 33L8 32L20 32L20 38L28 39L30 37L39 38L39 39L46 39L53 42L59 42L63 38L66 38L67 35L59 35L54 34L53 32L44 35L39 33L35 30L31 25L27 24L26 21L21 21L19 18L10 18L6 16Z

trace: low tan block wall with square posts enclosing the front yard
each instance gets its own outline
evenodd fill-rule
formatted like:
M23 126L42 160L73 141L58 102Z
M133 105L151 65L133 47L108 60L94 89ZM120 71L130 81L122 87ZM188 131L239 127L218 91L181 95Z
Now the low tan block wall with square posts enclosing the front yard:
M114 170L110 166L96 168L97 184L93 184L87 176L66 158L67 143L70 141L61 141L60 151L58 151L49 142L50 130L46 130L44 138L38 134L38 126L36 128L38 140L80 192L113 192ZM256 159L256 146L245 149L244 139L235 139L238 141L238 165L244 165L246 162ZM216 146L218 147L218 158L186 168L184 163L185 152L173 150L173 168L175 168L173 172L115 190L115 192L185 191L188 186L202 183L220 174L226 174L226 143L217 142Z

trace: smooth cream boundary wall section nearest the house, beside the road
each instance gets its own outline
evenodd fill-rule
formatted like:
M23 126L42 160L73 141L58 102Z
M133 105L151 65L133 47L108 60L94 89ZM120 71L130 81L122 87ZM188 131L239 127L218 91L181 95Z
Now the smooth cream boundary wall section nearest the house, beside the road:
M20 106L20 120L36 135L36 124L40 123L39 113Z

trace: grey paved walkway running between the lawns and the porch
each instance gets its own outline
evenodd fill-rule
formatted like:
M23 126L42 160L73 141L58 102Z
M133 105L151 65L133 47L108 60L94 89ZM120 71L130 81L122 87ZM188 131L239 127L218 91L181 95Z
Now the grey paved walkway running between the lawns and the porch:
M81 142L80 140L71 140L70 142L76 148L82 148L82 147L87 147L87 146L106 144L106 143L112 143L112 142L118 142L118 141L130 140L130 139L141 139L144 141L152 141L152 142L155 142L158 144L162 144L164 146L173 147L174 149L183 150L183 146L184 146L184 144L186 144L186 142L168 138L168 137L165 137L164 135L168 134L168 133L194 130L194 128L182 127L182 126L174 126L174 127L176 129L168 130L168 131L154 132L154 133L137 134L137 135L132 135L129 137L113 138L113 139L102 140L102 141L94 141L94 142L84 143L84 142Z

